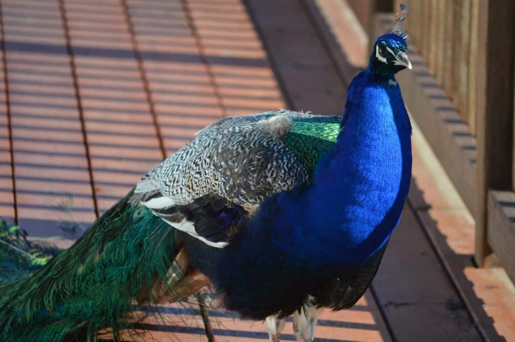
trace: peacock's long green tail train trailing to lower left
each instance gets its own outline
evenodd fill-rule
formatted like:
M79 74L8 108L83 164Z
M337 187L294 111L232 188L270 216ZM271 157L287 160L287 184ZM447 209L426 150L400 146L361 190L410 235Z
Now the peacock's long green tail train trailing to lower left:
M72 247L0 285L0 341L95 340L100 329L130 328L135 298L166 279L177 251L177 231L132 207L131 194Z

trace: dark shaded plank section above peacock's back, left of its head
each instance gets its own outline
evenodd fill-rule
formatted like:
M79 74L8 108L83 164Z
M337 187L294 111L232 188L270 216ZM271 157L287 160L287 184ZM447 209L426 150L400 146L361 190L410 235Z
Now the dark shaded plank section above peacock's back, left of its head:
M294 109L341 114L346 86L327 53L321 53L324 46L302 4L289 0L246 3ZM284 42L289 42L287 49Z

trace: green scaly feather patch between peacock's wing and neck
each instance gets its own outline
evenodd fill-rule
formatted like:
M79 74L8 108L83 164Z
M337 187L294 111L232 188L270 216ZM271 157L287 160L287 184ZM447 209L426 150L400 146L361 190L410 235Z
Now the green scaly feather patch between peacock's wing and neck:
M341 117L296 118L292 121L294 127L284 137L284 143L312 176L320 156L336 145Z

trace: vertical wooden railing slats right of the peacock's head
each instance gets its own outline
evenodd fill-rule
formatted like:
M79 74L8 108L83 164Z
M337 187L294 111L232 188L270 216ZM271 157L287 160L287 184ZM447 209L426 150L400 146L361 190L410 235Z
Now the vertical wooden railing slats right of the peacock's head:
M479 0L403 1L410 41L475 135Z

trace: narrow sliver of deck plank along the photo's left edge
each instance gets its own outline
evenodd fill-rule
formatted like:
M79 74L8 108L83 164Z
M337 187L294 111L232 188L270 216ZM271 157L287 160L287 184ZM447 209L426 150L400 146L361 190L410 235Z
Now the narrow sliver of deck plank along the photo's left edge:
M0 30L0 33L2 30ZM4 39L0 34L0 39ZM12 178L12 154L10 122L7 112L4 51L0 51L0 219L8 223L16 221Z

